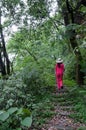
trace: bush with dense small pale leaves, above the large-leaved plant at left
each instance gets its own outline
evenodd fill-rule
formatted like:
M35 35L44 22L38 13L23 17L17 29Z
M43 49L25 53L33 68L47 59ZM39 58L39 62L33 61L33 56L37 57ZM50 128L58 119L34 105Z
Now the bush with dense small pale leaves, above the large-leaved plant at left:
M13 74L8 80L0 80L0 85L0 109L22 105L27 107L35 100L19 73Z

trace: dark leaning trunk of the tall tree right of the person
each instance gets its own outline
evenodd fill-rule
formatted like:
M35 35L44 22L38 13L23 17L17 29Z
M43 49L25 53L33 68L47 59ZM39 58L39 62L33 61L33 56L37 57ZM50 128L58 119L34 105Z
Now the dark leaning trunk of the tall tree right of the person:
M68 0L66 0L66 7L62 9L62 12L63 12L65 26L75 23L73 9L71 8ZM72 34L69 40L70 40L71 47L73 48L74 54L76 56L76 81L78 85L82 85L84 82L84 73L81 71L81 61L83 60L83 58L76 40L76 30L74 29L67 30L67 33Z

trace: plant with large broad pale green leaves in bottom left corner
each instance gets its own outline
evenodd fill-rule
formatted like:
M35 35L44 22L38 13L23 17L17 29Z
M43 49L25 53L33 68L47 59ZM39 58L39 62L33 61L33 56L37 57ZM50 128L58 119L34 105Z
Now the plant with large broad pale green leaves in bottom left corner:
M28 109L11 107L6 111L0 111L0 129L21 130L29 128L32 124L32 116Z

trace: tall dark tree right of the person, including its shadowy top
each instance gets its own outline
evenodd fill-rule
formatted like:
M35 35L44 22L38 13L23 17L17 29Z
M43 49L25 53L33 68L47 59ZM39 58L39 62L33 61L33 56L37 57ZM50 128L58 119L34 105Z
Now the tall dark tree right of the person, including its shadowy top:
M67 35L70 34L69 40L73 52L76 56L76 80L79 85L83 84L84 73L81 71L81 62L83 61L79 45L77 43L77 30L74 25L81 25L85 21L85 14L80 11L82 6L86 6L84 0L58 0L58 5L66 26ZM70 26L70 28L68 28Z

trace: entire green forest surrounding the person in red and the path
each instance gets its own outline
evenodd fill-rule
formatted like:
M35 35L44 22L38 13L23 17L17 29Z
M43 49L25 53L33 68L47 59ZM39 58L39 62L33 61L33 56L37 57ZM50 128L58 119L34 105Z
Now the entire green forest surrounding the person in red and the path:
M70 117L86 123L85 6L83 0L0 1L0 130L41 129L57 101L72 104ZM65 96L55 95L58 57Z

